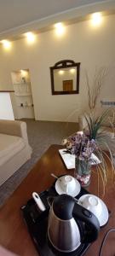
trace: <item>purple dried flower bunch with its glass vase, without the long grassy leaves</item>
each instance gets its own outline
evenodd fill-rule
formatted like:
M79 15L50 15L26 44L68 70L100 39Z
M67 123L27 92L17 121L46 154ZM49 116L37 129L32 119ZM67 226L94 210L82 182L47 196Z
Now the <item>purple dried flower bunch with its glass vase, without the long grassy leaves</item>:
M90 182L91 154L97 149L94 139L90 139L88 132L78 131L63 141L68 153L75 155L75 177L84 186Z

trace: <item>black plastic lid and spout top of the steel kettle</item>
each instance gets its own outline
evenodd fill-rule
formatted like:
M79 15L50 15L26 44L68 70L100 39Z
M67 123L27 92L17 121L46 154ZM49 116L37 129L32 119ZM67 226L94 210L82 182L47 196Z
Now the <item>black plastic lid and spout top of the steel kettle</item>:
M53 210L55 215L63 220L68 220L72 218L72 210L75 201L71 195L58 195L55 197L53 202Z

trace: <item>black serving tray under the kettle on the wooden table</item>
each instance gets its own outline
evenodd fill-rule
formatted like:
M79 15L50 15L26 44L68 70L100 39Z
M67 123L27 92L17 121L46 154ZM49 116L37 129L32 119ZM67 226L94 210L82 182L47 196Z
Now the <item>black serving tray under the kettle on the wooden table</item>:
M80 193L76 196L79 199L82 195L89 194L86 189L81 188ZM23 213L23 218L26 221L27 228L35 246L37 247L37 252L41 256L83 256L88 247L91 245L89 243L82 244L76 251L72 253L60 253L51 246L49 239L47 237L47 227L48 227L48 216L49 216L49 196L58 195L55 191L55 183L53 186L42 193L39 194L43 204L46 207L46 211L39 212L36 203L33 199L27 201L26 206L22 206L21 210Z

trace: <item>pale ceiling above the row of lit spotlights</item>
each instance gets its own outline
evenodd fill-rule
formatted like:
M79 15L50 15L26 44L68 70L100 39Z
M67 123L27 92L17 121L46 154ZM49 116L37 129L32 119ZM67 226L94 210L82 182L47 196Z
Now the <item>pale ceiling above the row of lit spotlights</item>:
M93 11L113 4L114 0L0 0L0 39L75 18L82 9L86 15L90 7Z

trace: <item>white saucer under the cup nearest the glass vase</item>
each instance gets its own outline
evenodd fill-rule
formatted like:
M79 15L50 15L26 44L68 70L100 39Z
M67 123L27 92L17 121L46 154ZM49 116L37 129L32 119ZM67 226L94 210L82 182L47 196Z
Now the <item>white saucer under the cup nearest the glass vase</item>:
M55 190L59 195L66 194L66 192L60 186L60 179L61 177L59 177L55 182ZM72 195L74 197L79 194L81 190L81 185L76 178L75 178L75 183L76 183L76 188L71 193L68 193L67 195Z

